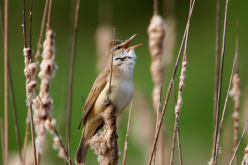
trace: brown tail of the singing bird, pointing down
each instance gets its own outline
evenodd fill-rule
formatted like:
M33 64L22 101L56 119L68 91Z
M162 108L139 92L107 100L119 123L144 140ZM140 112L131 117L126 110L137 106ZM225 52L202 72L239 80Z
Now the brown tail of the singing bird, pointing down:
M81 140L80 140L77 153L75 156L75 161L77 165L83 165L85 163L87 151L89 148L89 144L85 144L86 141L88 140L85 138L85 127L86 127L86 124L84 123Z

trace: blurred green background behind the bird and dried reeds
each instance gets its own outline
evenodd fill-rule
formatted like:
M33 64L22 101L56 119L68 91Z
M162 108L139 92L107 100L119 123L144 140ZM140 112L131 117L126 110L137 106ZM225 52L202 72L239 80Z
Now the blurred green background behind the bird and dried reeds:
M91 86L96 79L97 51L95 43L95 32L99 26L99 3L100 1L81 1L77 48L74 65L73 102L72 102L72 124L71 124L71 156L74 162L74 155L80 140L81 131L77 126L83 110L81 96L87 97ZM156 115L152 106L153 83L150 75L150 53L148 50L147 27L153 14L152 0L119 0L102 1L109 3L110 7L103 10L103 13L110 13L112 26L116 28L118 39L127 39L133 34L138 34L131 45L143 44L136 49L137 60L134 69L134 108L131 119L131 130L127 151L127 164L147 164L151 152L155 132ZM163 17L168 14L165 1L159 1L159 13ZM26 13L28 18L30 1L26 2ZM39 37L41 19L45 1L34 1L33 3L33 31L32 45L36 51L36 44ZM241 75L241 104L240 104L240 130L243 130L247 118L248 102L248 57L247 57L247 36L248 36L248 1L230 0L227 20L227 37L225 50L225 64L223 74L223 87L221 109L229 83L229 77L235 53L236 20L239 20L239 62L238 68ZM3 7L3 1L1 1ZM224 0L221 1L221 29L224 20ZM102 7L100 7L102 8ZM71 16L72 10L72 16ZM106 10L106 11L105 11ZM109 11L111 10L111 12ZM174 1L174 9L171 14L176 22L175 26L175 47L170 63L166 63L165 79L163 84L164 102L168 84L174 68L176 56L179 50L183 32L186 26L189 10L189 1ZM67 119L67 90L69 61L72 41L73 17L75 11L75 0L53 1L51 28L56 33L56 64L58 70L52 80L51 95L54 101L52 118L57 120L57 129L63 141L66 139ZM112 14L111 14L112 13ZM9 59L16 98L18 124L23 145L25 135L25 123L27 116L24 57L23 57L23 30L22 30L22 1L9 1ZM27 21L27 25L29 21ZM196 0L188 38L188 67L183 90L183 108L180 113L179 125L181 132L182 156L184 164L198 165L207 164L211 157L212 129L213 129L213 97L214 97L214 73L215 73L215 27L216 27L216 1ZM222 30L221 30L222 35ZM222 37L221 37L222 38ZM1 118L4 117L4 57L3 40L0 40L0 105ZM176 89L181 63L175 78ZM38 80L40 81L40 80ZM224 121L221 147L222 153L219 156L220 164L227 164L233 154L233 101L230 98L227 105L227 113ZM118 123L118 143L121 151L120 162L122 161L125 133L128 121L129 110L126 110L120 117ZM169 164L171 142L174 127L174 98L170 97L169 104L163 122L165 139L165 161ZM241 131L240 131L241 135ZM45 142L44 154L41 164L64 164L61 158L57 157L58 152L52 148L52 137L49 133ZM241 143L238 151L239 164L243 157L243 150L247 144L248 132ZM31 136L29 138L31 144ZM176 147L177 148L177 147ZM2 150L0 150L2 152ZM10 159L17 156L17 144L13 125L13 114L11 101L9 101L9 152ZM28 157L32 157L29 155ZM2 156L0 162L2 163ZM157 161L158 162L158 161ZM0 163L0 164L1 164ZM86 164L97 164L96 155L89 150ZM175 152L175 163L178 164L177 149Z

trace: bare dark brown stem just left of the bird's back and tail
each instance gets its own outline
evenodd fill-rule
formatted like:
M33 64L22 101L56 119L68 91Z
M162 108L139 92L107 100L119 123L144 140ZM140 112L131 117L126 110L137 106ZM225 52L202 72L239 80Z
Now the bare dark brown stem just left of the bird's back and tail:
M75 59L76 41L77 41L79 7L80 7L80 0L77 0L76 12L75 12L75 20L74 20L74 33L73 33L73 40L72 40L72 51L71 51L69 89L68 89L69 90L68 91L69 96L68 96L68 107L67 107L67 135L70 134L70 130L71 130L71 107L72 107L73 73L74 73L74 59Z

